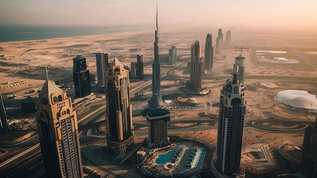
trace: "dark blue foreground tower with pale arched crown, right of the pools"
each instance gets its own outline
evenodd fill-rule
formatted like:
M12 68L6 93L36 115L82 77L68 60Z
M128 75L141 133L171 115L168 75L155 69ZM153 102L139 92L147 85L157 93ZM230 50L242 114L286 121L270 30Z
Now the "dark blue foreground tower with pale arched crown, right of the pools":
M234 175L240 172L246 106L245 86L237 80L238 66L233 65L232 81L227 80L220 93L217 158L218 172ZM241 172L240 172L241 173Z

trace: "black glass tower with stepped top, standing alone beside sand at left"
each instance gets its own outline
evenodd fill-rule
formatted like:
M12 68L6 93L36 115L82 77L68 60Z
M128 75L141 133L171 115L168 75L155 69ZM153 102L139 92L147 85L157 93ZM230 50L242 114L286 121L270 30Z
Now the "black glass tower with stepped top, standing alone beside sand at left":
M83 98L91 93L90 75L87 70L86 58L82 55L77 55L73 58L72 73L74 77L75 96Z

